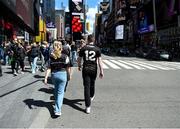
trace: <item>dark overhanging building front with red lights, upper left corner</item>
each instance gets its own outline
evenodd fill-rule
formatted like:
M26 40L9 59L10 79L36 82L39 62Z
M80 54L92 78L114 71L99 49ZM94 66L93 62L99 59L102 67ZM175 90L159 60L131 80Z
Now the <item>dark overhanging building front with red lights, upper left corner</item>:
M19 37L29 42L38 34L39 0L0 0L0 5L0 41Z

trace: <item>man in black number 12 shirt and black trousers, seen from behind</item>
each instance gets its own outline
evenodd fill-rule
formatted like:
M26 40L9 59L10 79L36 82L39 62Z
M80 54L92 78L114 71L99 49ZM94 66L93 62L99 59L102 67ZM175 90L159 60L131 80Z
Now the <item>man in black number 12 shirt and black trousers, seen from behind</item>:
M99 65L99 77L103 78L103 68L101 60L101 51L94 45L94 37L88 36L88 44L79 51L78 69L81 71L81 60L83 59L82 77L84 85L84 98L86 113L90 113L91 101L95 95L95 80L97 77L97 65ZM98 64L97 64L98 62Z

